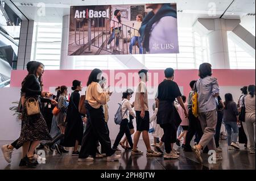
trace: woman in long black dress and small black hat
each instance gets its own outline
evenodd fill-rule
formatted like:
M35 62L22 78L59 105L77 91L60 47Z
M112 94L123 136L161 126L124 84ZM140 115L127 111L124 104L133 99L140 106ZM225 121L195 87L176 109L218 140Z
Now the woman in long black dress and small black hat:
M70 96L68 111L65 122L67 127L65 128L65 136L62 146L74 147L72 155L78 156L78 146L81 145L82 136L84 133L84 127L82 125L82 115L79 113L79 101L82 91L82 83L80 81L73 81L72 83L73 93Z

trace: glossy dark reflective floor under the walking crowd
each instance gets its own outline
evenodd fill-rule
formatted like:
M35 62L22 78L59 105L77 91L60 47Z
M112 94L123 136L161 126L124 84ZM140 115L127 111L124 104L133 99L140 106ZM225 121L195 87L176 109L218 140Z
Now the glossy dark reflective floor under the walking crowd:
M0 141L0 145L6 144L10 141ZM63 155L53 155L49 153L46 155L46 164L39 164L36 169L39 170L81 170L81 169L92 169L92 170L205 170L205 169L243 169L243 170L255 170L255 154L250 154L249 151L240 145L241 150L228 150L226 140L221 142L222 145L222 161L217 163L208 163L208 154L203 154L203 164L196 161L195 155L191 152L184 152L181 148L175 148L180 151L179 159L164 160L163 157L146 157L145 146L143 141L139 141L139 148L144 151L144 155L133 155L131 156L130 151L122 150L122 158L119 162L106 162L106 158L96 159L94 162L77 162L77 157L72 157L70 153ZM121 148L120 148L121 149ZM0 170L24 170L27 167L19 167L19 161L21 157L21 149L15 150L12 157L11 164L8 164L3 158L2 152L0 153Z

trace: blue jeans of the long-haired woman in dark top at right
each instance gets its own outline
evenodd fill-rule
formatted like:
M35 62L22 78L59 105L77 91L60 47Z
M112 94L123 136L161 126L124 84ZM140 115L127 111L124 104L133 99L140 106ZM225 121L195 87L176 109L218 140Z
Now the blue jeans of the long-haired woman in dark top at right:
M224 122L226 132L228 133L228 146L231 145L231 142L237 142L238 137L238 126L237 122Z

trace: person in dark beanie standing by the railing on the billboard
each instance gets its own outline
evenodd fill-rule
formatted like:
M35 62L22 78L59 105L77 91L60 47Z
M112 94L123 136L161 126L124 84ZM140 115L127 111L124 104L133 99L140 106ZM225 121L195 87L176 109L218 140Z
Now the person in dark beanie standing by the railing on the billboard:
M121 11L115 10L114 11L114 17L110 21L110 31L112 32L112 35L109 38L107 48L110 48L110 43L115 39L115 50L118 50L119 52L122 52L122 49L119 47L119 33L121 33Z

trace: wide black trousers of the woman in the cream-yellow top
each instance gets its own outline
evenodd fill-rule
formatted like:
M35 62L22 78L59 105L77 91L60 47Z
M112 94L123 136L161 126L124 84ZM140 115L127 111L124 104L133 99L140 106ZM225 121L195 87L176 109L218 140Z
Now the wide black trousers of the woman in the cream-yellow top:
M115 153L111 148L109 132L106 129L103 107L96 109L90 106L87 102L85 106L88 110L88 122L84 137L82 138L81 150L79 158L87 158L89 155L96 156L95 148L97 141L100 141L101 146L105 149L106 155L110 156Z

